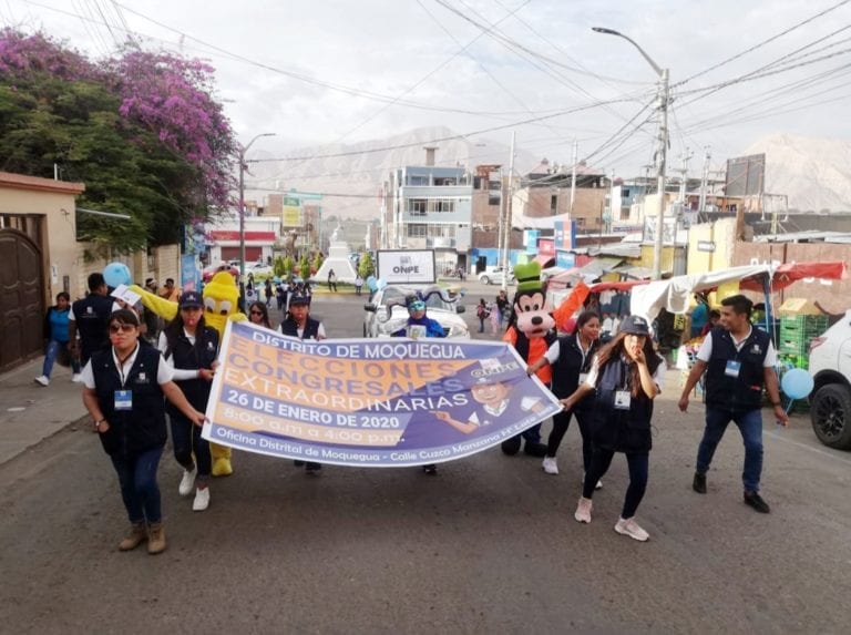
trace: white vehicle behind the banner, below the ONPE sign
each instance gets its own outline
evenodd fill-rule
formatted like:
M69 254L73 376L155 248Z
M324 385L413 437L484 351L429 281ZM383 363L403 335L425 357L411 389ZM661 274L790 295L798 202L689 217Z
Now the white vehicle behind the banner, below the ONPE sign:
M396 305L391 307L391 314L388 316L387 303L402 299L417 290L422 291L423 288L390 285L377 290L371 301L363 305L367 311L363 316L363 337L392 337L392 334L403 329L408 321L408 309L403 305ZM462 313L464 307L460 301L448 303L437 294L426 300L426 315L440 322L447 337L470 337L470 328L458 315Z

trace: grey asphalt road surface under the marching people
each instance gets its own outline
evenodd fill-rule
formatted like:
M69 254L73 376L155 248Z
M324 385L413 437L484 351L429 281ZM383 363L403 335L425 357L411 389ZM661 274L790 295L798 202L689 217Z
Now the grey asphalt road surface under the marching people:
M495 287L468 286L472 326L474 303ZM359 336L365 299L321 296L314 314L331 336ZM214 480L204 513L177 495L167 451L168 550L119 553L115 475L89 429L69 427L0 467L0 631L848 633L851 454L820 445L804 414L789 429L767 422L772 513L761 515L741 501L731 428L708 494L696 494L703 406L681 414L677 380L668 373L656 406L637 514L647 543L613 531L623 457L595 494L593 522L573 520L574 423L557 477L499 449L437 477L335 467L307 477L289 461L235 453L236 474Z

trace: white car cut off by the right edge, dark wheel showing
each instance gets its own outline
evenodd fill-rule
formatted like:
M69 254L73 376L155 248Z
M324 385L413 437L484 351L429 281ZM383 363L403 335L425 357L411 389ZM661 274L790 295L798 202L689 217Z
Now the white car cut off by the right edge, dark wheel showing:
M851 309L810 345L810 420L819 441L851 450Z

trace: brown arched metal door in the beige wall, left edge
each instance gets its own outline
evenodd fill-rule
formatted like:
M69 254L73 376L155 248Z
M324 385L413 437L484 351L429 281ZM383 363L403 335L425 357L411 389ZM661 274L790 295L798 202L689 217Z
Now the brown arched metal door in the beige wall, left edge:
M39 247L0 229L0 372L42 354L43 277Z

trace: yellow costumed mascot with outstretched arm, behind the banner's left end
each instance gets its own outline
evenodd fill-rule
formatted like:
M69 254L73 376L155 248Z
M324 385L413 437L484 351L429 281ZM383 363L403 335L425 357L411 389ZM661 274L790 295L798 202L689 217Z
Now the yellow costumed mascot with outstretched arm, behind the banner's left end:
M136 285L130 288L142 296L142 304L145 308L154 311L161 318L171 321L177 316L177 303L161 298ZM204 287L202 297L204 298L204 321L208 327L218 331L219 341L225 337L225 326L228 321L248 319L245 314L238 311L239 289L228 272L218 272L213 276L213 279ZM228 477L234 473L234 468L230 464L230 448L211 443L209 451L213 454L214 477Z

